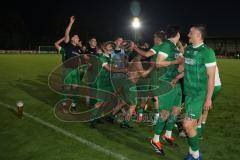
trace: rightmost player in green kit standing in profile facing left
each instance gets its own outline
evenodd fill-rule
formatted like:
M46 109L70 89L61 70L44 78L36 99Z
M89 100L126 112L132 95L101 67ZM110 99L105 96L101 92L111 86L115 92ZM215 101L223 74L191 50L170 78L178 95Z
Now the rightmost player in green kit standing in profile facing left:
M199 138L197 135L197 120L203 109L212 107L212 95L216 72L214 51L204 44L206 28L203 25L191 27L188 34L189 45L184 53L184 93L186 118L184 129L188 135L189 152L186 160L201 160L199 153Z

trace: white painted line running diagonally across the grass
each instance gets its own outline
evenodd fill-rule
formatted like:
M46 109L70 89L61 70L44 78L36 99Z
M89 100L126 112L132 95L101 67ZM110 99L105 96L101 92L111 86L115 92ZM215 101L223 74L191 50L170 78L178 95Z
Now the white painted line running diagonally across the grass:
M1 101L0 101L0 105L4 106L5 108L8 108L8 109L12 109L12 110L16 109L16 107L11 106L11 105L6 104L6 103L3 103ZM66 131L66 130L64 130L62 128L59 128L59 127L57 127L57 126L55 126L55 125L53 125L51 123L48 123L48 122L46 122L46 121L44 121L44 120L42 120L42 119L40 119L40 118L38 118L36 116L33 116L30 113L23 112L23 115L25 117L27 117L27 118L33 119L34 121L36 121L37 123L39 123L39 124L41 124L43 126L51 128L51 129L53 129L53 130L55 130L55 131L57 131L59 133L62 133L63 135L65 135L67 137L75 139L78 142L80 142L82 144L85 144L85 145L87 145L88 147L90 147L92 149L95 149L96 151L103 152L104 154L109 155L109 156L111 156L113 158L116 158L118 160L129 160L128 158L124 157L121 154L114 153L114 152L112 152L112 151L110 151L108 149L105 149L105 148L103 148L103 147L101 147L101 146L99 146L99 145L97 145L97 144L95 144L93 142L90 142L90 141L88 141L88 140L86 140L86 139L84 139L82 137L76 136L76 135L74 135L74 134L72 134L72 133L70 133L70 132L68 132L68 131Z

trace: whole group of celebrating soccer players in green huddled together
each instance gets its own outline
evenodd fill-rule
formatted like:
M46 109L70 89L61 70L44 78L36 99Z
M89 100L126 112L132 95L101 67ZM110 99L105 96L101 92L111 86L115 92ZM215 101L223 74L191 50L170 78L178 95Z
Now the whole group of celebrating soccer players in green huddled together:
M62 55L65 68L64 90L94 79L87 86L96 90L90 93L95 94L96 99L86 97L86 103L93 108L91 126L102 123L103 116L114 123L119 112L127 108L120 127L132 128L133 116L137 115L137 122L141 123L144 113L150 110L147 107L150 101L154 111L154 135L150 143L156 153L165 155L161 139L169 145L175 144L172 131L178 117L184 114L181 124L189 145L185 159L201 160L199 141L212 101L221 89L215 53L204 44L205 26L190 28L189 45L180 42L178 26L168 26L154 34L154 46L150 49L146 43L137 45L122 37L102 43L100 47L96 38L91 37L85 47L77 34L70 36L74 21L72 16L65 36L55 47ZM79 67L83 64L85 68ZM86 70L94 70L92 77L86 78ZM102 112L112 97L104 96L104 92L117 97L117 104L108 114ZM74 93L71 97L64 95L65 101L69 98L71 112L78 112L78 97ZM65 101L62 103L64 111Z

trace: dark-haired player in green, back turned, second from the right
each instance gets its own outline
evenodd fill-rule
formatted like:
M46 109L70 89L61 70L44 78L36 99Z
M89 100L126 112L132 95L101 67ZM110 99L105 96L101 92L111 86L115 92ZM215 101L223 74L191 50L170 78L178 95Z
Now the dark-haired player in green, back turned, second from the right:
M178 26L168 26L166 34L167 40L155 50L158 53L156 65L157 67L167 67L166 73L161 77L161 80L171 83L178 74L178 67L181 60L180 50L177 47L180 39L180 28ZM177 83L168 93L158 96L158 100L160 116L155 126L155 133L151 144L158 154L164 155L164 150L159 140L160 134L166 125L166 133L163 135L163 139L171 145L174 144L172 130L176 123L176 118L180 113L182 100L180 84Z

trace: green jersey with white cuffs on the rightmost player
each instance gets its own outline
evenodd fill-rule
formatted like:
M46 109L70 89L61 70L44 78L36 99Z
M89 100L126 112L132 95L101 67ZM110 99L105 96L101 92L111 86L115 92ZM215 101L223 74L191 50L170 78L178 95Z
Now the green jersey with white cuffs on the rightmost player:
M187 96L206 95L207 67L216 66L214 51L205 44L190 45L184 52L184 92Z

